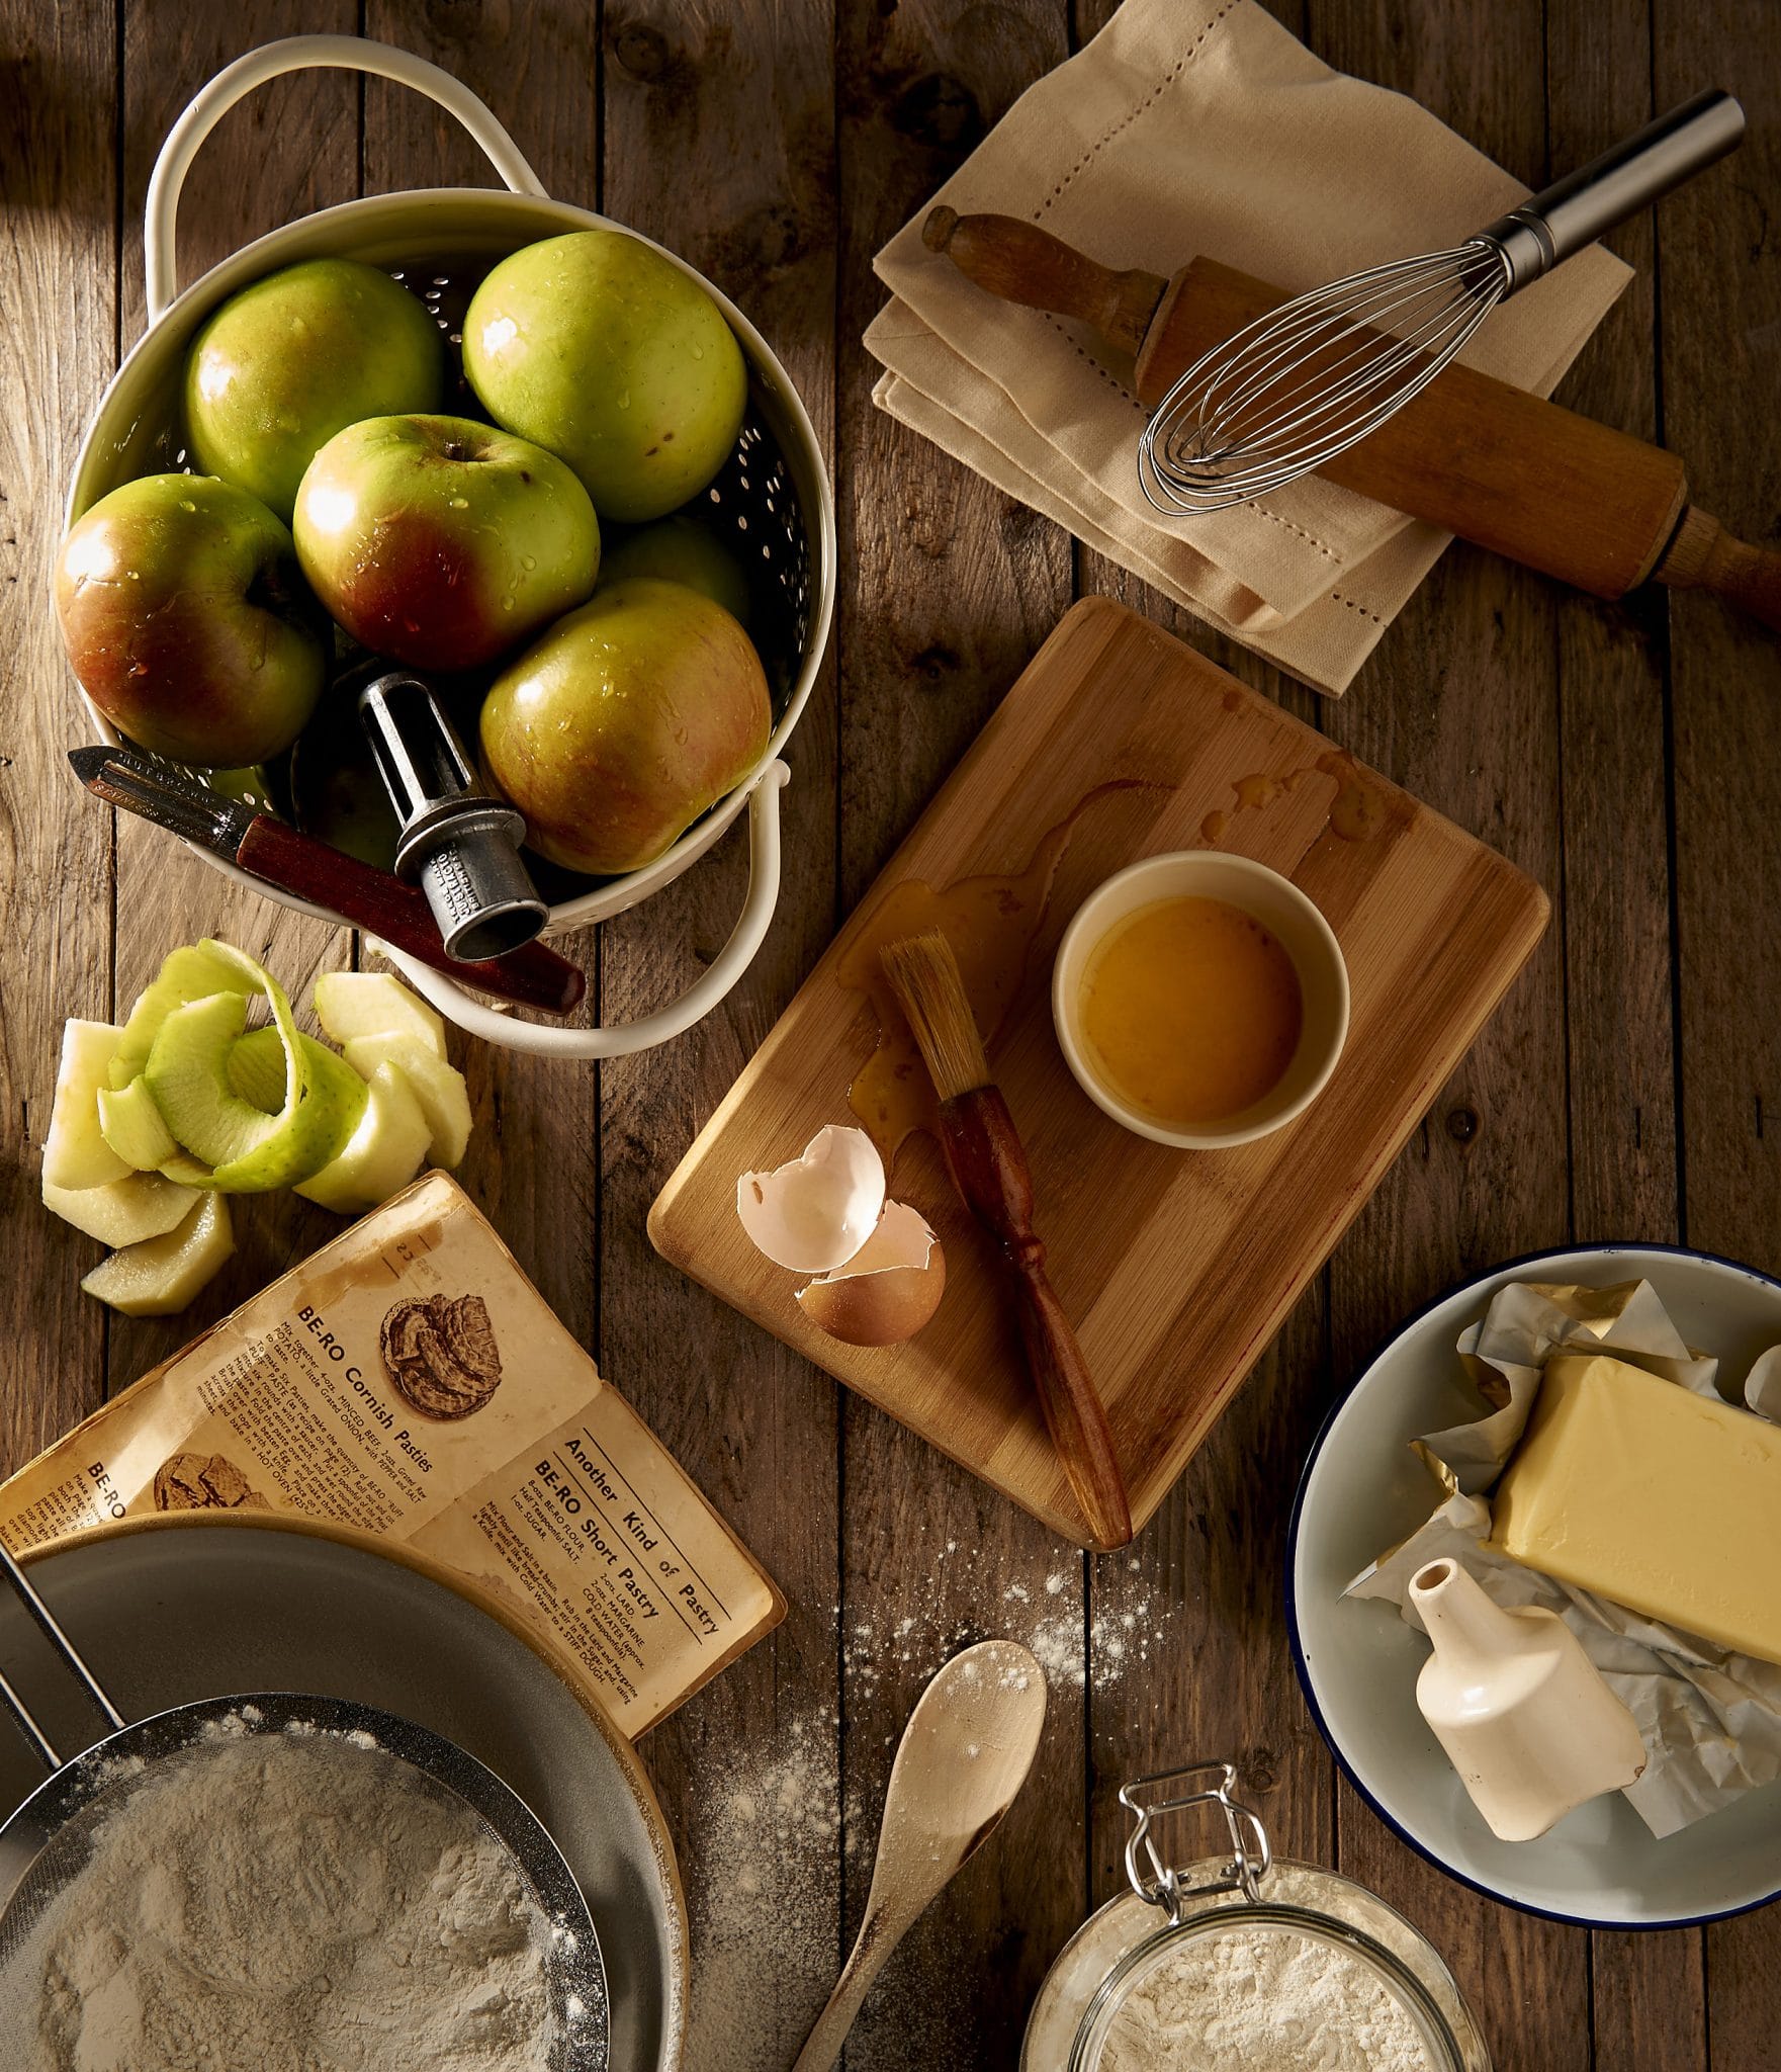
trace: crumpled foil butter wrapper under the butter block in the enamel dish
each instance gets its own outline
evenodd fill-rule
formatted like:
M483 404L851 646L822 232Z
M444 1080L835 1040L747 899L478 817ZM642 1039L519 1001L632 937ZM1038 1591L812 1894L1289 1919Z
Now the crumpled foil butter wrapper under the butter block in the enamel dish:
M1483 1544L1491 1531L1489 1492L1526 1428L1547 1359L1611 1353L1706 1397L1719 1394L1717 1359L1682 1341L1648 1280L1611 1289L1512 1283L1462 1332L1458 1351L1489 1411L1412 1440L1446 1500L1346 1595L1383 1598L1421 1631L1408 1602L1410 1577L1448 1556L1464 1562L1497 1604L1557 1612L1638 1722L1648 1761L1626 1798L1655 1836L1675 1834L1781 1778L1781 1666L1640 1618ZM1781 1347L1750 1370L1746 1403L1781 1421Z

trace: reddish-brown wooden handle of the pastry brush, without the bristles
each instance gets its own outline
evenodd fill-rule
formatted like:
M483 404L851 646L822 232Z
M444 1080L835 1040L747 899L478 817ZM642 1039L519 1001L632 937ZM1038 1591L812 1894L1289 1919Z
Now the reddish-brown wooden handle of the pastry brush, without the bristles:
M1046 1278L1046 1247L1033 1229L1033 1177L1000 1088L980 1086L940 1102L940 1144L959 1200L1002 1247L1017 1299L1027 1368L1064 1475L1106 1552L1131 1539L1131 1504L1093 1376Z

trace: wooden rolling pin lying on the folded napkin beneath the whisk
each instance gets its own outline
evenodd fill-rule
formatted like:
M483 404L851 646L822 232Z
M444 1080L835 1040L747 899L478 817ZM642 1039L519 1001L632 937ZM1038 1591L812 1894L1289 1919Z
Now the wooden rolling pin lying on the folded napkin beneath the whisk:
M1201 354L1288 300L1216 259L1174 280L1116 274L1017 215L938 207L922 236L1004 303L1075 317L1129 352L1151 408ZM1448 367L1317 472L1595 597L1642 582L1713 591L1781 630L1781 551L1690 503L1675 454L1470 367Z

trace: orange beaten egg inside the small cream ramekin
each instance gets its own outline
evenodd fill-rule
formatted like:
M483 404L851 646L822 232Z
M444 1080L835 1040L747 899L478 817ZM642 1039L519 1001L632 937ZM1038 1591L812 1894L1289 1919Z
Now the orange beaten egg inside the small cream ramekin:
M1081 1032L1108 1092L1170 1129L1269 1094L1305 1019L1280 941L1226 899L1160 899L1114 922L1083 972Z

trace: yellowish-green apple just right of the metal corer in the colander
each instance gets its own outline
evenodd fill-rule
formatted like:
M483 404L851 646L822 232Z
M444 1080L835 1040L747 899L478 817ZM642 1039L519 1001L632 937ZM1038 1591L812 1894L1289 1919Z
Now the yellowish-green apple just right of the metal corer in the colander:
M634 576L559 620L495 678L483 765L555 864L654 862L766 752L772 704L737 622Z

